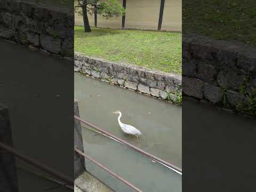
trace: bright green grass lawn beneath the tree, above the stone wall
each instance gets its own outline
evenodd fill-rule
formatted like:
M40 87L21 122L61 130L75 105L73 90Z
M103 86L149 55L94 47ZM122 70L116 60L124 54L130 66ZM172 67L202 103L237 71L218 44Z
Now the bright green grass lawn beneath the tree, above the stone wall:
M75 26L75 51L181 74L181 33Z

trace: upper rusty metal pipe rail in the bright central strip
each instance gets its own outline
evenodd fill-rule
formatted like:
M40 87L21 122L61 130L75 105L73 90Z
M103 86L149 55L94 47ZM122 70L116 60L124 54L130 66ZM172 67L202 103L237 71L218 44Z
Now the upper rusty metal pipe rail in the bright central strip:
M120 138L116 137L115 135L113 135L113 134L111 134L111 133L108 133L108 132L105 131L105 130L100 129L99 127L97 127L97 126L95 126L95 125L93 125L93 124L91 124L91 123L89 123L89 122L86 122L85 120L83 120L83 119L81 119L81 118L79 118L79 117L77 117L77 116L74 116L74 117L75 117L77 120L81 121L82 123L84 123L84 124L86 124L86 125L88 125L88 126L90 126L90 127L93 127L94 129L96 129L96 130L98 130L98 131L100 131L100 132L102 132L102 133L108 135L109 137L114 138L115 140L117 140L117 141L119 141L119 142L124 143L125 145L131 147L131 148L134 149L134 150L137 150L139 153L141 153L141 154L143 154L143 155L145 155L145 156L148 156L148 157L150 157L150 158L156 160L157 162L159 162L159 163L161 163L161 164L164 164L164 165L166 165L166 166L168 166L168 167L171 167L171 169L172 169L173 171L175 171L175 172L177 172L177 173L179 173L179 174L182 175L182 170L181 170L179 167L174 166L174 165L172 165L171 163L166 162L166 161L164 161L163 159L158 158L158 157L156 157L156 156L154 156L154 155L152 155L152 154L150 154L150 153L147 153L146 151L144 151L144 150L142 150L142 149L140 149L140 148L138 148L138 147L132 145L131 143L129 143L129 142L123 140L123 139L120 139Z

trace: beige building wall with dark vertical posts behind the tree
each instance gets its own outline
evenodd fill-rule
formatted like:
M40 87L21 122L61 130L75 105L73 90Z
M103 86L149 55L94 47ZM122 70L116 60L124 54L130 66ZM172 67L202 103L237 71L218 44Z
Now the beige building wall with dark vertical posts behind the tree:
M118 0L123 5L123 0ZM126 0L125 29L157 30L161 0ZM162 29L181 31L181 0L165 0ZM94 27L94 15L88 15ZM97 15L97 26L103 28L122 28L122 17L103 18ZM83 26L83 18L75 13L75 24Z

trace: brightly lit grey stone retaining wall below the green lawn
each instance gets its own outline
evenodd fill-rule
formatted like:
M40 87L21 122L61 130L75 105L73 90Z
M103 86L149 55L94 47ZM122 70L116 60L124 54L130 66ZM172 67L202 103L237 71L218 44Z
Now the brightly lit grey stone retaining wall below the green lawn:
M110 84L173 102L177 101L177 95L181 95L180 75L87 57L77 52L74 59L76 72L101 79Z

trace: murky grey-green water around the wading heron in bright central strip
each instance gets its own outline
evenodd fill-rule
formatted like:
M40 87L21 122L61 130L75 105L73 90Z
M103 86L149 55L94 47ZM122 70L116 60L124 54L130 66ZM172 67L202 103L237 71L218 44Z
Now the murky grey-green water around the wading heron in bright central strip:
M181 107L145 95L111 86L90 77L75 74L75 99L80 116L119 138L181 167ZM142 132L139 140L125 135L121 121ZM85 153L120 174L143 191L181 191L181 176L163 165L94 132L82 129ZM105 171L86 161L89 172L117 191L132 191Z

